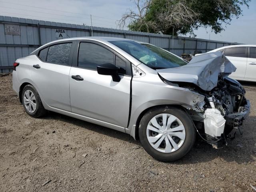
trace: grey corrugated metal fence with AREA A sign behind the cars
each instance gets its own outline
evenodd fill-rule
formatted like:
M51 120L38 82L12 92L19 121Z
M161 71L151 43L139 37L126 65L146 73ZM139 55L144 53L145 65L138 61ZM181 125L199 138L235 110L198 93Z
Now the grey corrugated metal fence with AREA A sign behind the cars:
M39 46L59 38L91 36L129 38L148 42L180 56L201 50L203 53L230 45L230 42L210 41L197 38L175 37L162 34L91 27L0 16L0 73L12 72L17 58L27 56Z

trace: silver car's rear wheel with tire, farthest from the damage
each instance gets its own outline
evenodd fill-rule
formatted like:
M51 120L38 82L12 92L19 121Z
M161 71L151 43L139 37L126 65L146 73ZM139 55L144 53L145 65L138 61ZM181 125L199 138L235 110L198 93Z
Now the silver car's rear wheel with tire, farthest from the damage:
M30 84L26 85L22 91L22 104L30 116L40 117L46 114L38 92Z

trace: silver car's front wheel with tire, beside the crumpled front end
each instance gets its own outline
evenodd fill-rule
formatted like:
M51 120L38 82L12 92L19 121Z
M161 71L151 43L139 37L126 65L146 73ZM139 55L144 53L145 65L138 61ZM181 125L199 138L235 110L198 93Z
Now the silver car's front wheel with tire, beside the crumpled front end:
M139 138L143 148L161 161L174 161L185 156L196 139L193 122L176 107L150 109L140 121Z

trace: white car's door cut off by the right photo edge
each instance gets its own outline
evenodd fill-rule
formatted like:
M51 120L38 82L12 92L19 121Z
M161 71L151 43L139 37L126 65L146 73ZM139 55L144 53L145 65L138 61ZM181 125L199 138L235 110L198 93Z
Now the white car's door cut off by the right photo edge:
M244 79L256 80L256 47L249 47Z

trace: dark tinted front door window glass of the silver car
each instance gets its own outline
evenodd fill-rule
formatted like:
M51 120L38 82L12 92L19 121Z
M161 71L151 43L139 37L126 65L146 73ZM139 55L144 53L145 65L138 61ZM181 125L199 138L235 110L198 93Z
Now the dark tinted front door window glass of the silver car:
M104 63L114 64L114 54L106 48L87 42L81 42L78 52L78 67L97 70Z

